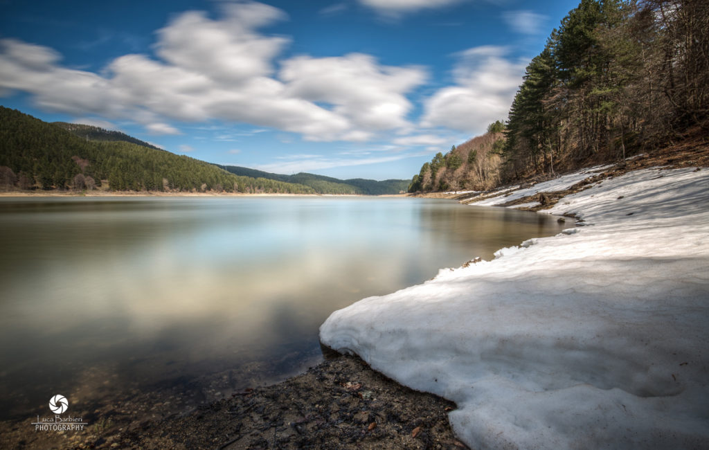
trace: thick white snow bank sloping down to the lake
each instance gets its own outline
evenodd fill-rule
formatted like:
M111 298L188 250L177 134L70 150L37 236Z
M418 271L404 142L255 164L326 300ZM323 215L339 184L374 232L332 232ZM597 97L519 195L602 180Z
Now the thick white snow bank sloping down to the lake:
M709 169L632 171L544 212L591 226L360 300L321 341L456 402L472 448L709 448Z

